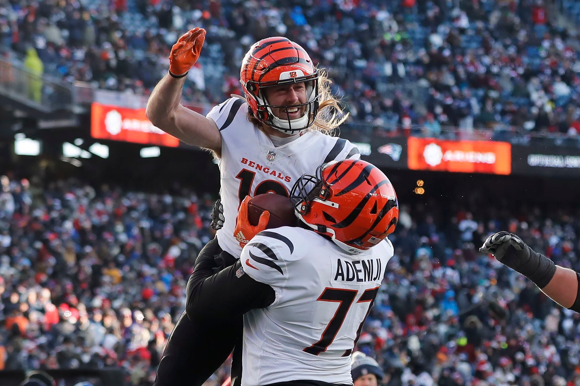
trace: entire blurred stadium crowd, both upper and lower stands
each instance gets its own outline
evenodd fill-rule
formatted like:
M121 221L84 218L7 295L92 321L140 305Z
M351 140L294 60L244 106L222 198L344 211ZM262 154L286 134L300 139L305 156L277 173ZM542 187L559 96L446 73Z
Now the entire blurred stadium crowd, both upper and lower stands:
M171 45L201 26L184 100L211 105L240 92L253 42L285 35L329 71L353 115L342 130L575 139L578 21L574 0L0 0L0 60L147 96ZM183 181L146 191L0 172L0 370L120 366L127 385L151 384L216 197ZM578 208L497 194L400 193L396 254L358 341L384 384L580 385L580 316L477 252L509 230L580 270Z

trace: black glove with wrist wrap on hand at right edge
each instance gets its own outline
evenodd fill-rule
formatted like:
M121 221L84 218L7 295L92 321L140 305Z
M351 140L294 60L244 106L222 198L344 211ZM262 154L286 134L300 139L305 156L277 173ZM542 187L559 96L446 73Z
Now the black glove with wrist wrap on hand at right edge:
M535 252L521 239L509 232L489 236L479 249L491 253L500 263L520 272L540 288L548 285L556 272L556 264L543 254Z

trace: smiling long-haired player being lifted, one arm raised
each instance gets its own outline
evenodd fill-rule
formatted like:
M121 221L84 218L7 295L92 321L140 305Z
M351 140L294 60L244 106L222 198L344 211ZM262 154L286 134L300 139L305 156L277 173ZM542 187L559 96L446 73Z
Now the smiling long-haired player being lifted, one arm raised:
M151 93L146 112L158 128L211 150L219 159L223 216L215 211L213 217L221 217L223 227L218 241L201 253L217 255L223 250L238 258L269 216L264 212L258 227L247 219L236 223L238 207L248 203L245 198L266 192L288 196L302 174L314 173L323 162L358 159L360 154L349 141L329 135L347 115L339 117L341 110L324 72L287 38L267 38L251 46L241 65L245 97L231 97L207 116L183 107L182 86L204 39L205 30L194 28L173 45L169 73ZM241 318L238 321L241 328ZM234 325L224 320L220 326L199 326L182 314L162 356L157 386L204 383L233 349L240 332ZM198 351L210 344L211 350Z

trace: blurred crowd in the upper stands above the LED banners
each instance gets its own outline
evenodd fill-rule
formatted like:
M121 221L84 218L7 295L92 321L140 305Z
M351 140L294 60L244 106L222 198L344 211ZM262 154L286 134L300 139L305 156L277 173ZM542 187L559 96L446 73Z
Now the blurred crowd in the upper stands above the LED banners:
M577 136L578 27L544 1L0 0L0 45L33 72L147 95L179 35L204 27L184 98L216 104L241 92L249 46L284 35L328 69L350 128ZM557 8L580 20L577 2Z

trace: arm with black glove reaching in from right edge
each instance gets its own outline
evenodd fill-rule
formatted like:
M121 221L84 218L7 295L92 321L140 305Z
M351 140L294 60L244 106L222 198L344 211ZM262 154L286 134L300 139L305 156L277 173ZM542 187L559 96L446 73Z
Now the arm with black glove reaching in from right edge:
M508 232L498 232L488 237L480 251L493 254L499 262L520 272L562 307L580 312L578 272L554 264L518 236Z

